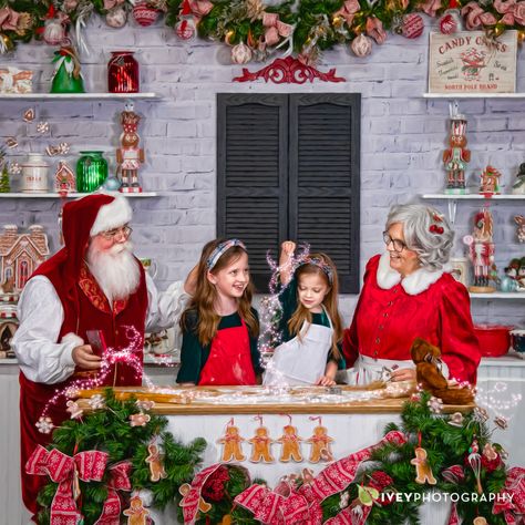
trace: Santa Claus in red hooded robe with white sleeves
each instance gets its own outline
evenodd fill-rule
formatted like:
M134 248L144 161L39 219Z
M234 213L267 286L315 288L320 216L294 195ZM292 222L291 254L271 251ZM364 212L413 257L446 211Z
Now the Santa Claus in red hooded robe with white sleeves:
M177 327L193 288L188 278L158 297L132 253L131 218L131 207L120 196L89 195L68 203L64 247L37 269L20 298L12 346L20 363L22 497L33 513L44 476L25 474L24 465L38 444L50 441L35 423L58 390L101 373L100 349L87 343L86 332L102 332L115 350L130 348L130 331L137 333L133 351L142 363L146 327ZM142 383L141 371L125 362L111 364L103 377L109 385ZM63 400L49 406L55 425L69 415L64 409Z

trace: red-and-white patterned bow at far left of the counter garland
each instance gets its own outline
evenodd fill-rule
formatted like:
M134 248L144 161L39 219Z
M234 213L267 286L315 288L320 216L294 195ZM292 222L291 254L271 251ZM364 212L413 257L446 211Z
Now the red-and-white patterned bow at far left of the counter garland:
M76 508L78 481L101 481L107 454L100 451L79 452L73 457L53 449L48 452L38 445L25 464L28 474L49 475L59 483L51 503L51 525L76 525L82 514Z

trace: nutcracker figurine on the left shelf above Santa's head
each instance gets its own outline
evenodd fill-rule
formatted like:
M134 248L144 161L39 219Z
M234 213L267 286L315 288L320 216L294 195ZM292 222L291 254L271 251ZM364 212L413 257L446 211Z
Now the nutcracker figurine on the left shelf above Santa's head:
M133 104L126 104L121 114L123 133L121 135L121 146L116 150L116 162L122 175L122 193L141 193L138 184L138 168L144 162L144 150L138 147L141 141L137 134L141 117L133 111Z

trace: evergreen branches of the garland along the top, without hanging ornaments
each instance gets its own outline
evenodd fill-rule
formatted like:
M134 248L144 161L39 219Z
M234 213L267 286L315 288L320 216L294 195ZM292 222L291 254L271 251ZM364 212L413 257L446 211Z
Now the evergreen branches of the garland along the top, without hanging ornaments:
M58 13L71 23L79 19L82 22L93 14L105 17L111 10L126 9L132 11L131 0L105 2L104 0L0 0L0 52L14 48L17 42L29 42L42 38L44 22ZM169 28L181 21L184 0L142 0L145 4L165 14L164 23ZM403 17L413 12L425 12L431 17L442 14L450 0L359 0L359 10L352 20L344 20L338 14L344 0L282 0L280 3L265 6L261 0L213 0L213 8L198 20L198 32L202 38L236 44L244 42L254 51L255 60L265 60L267 51L258 50L258 42L264 38L262 14L277 13L284 23L294 25L294 50L316 58L320 51L337 44L351 42L357 35L366 33L369 19L377 19L384 30L400 32ZM525 1L518 0L511 13L501 12L507 2L498 0L469 1L457 0L465 21L473 6L480 13L492 16L495 21L485 24L476 18L476 28L498 35L508 29L519 31L519 40L525 38ZM106 7L111 6L111 9ZM500 9L500 11L498 11ZM14 16L12 16L14 13ZM511 14L511 16L509 16ZM17 18L17 21L14 21ZM472 16L471 16L472 18ZM280 37L279 43L284 43Z

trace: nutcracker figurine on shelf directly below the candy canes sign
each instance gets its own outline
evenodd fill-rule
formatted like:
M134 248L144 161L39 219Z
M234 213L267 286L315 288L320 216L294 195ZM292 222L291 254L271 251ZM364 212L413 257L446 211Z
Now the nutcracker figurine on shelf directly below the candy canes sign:
M449 194L465 193L465 168L471 161L471 152L466 146L466 119L455 114L451 117L450 146L443 152L446 169L446 189Z

